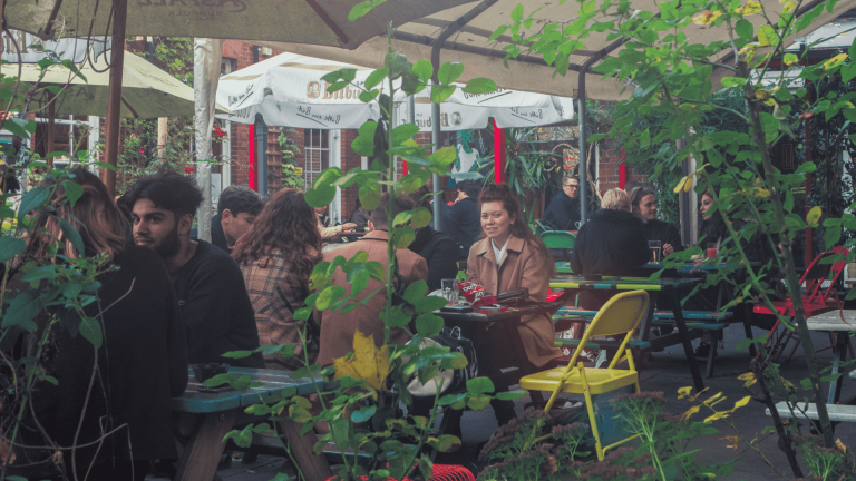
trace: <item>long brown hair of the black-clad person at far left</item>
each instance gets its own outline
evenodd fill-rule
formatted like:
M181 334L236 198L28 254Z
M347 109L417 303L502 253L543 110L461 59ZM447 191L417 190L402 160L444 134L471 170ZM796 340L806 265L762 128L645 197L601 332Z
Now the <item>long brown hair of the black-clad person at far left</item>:
M71 205L64 180L70 180L82 187L82 194ZM48 247L58 240L65 243L65 249L60 251L68 258L94 256L107 253L110 259L127 246L125 236L127 220L121 210L113 202L101 179L82 167L76 167L60 179L48 178L41 183L42 187L54 189L49 200L51 208L45 209L37 222L37 230L27 243L27 253L33 258L46 258ZM51 212L52 210L52 212ZM80 234L84 240L84 249L79 253L60 227L59 219L66 220Z

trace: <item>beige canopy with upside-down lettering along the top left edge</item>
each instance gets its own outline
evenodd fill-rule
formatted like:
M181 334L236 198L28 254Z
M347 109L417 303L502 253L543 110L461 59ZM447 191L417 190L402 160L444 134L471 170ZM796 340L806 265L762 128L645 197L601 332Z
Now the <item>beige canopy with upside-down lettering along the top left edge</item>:
M51 21L51 11L61 1ZM136 0L128 2L125 35L281 40L357 48L415 18L467 3L467 0L388 0L356 21L348 14L362 0ZM16 0L8 2L9 27L37 33L49 22L61 37L107 31L109 1ZM93 19L95 19L93 23ZM91 30L90 30L90 24Z

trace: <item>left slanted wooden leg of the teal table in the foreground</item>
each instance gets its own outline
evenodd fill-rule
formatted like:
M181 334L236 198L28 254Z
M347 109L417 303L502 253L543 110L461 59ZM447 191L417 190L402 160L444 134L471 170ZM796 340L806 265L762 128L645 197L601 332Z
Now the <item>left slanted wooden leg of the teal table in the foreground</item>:
M184 446L175 481L212 481L226 448L223 436L232 431L234 422L234 410L205 414Z

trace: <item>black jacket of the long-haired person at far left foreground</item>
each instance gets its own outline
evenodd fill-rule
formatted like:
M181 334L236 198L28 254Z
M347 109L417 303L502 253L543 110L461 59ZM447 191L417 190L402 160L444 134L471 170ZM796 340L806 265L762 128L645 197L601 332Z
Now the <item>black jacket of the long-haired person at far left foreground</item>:
M105 430L127 426L105 440L97 463L108 462L114 454L135 460L177 454L171 397L181 395L187 385L187 343L177 298L154 251L130 245L116 255L114 264L120 269L98 276L99 303L106 311L98 316L99 303L86 307L87 315L103 322L104 344L98 350L98 377L77 440L78 445L95 444L77 451L78 468L87 465L98 451L100 424L108 422L109 415L111 424L103 425ZM70 446L87 402L95 350L82 335L71 335L59 325L56 328L54 355L46 369L58 385L40 382L33 406L54 442ZM65 451L68 469L70 453Z

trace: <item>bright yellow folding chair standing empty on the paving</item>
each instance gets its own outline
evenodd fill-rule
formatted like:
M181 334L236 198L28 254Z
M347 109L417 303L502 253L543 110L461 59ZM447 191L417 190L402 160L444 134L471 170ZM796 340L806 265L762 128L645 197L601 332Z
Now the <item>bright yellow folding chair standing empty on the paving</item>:
M628 347L628 343L633 337L633 333L646 313L648 293L645 291L631 291L615 295L601 307L597 315L592 320L567 367L554 367L549 371L542 371L521 379L521 389L553 391L553 395L549 396L547 406L544 409L545 412L553 408L553 403L556 402L556 396L558 396L560 392L585 395L585 406L588 410L588 419L592 422L592 434L594 434L597 459L600 461L603 461L603 453L606 450L636 438L634 435L602 448L601 436L597 433L597 422L594 418L592 395L603 394L629 385L635 385L636 392L640 392L639 373L633 364L633 356ZM624 341L621 343L609 367L586 369L582 362L576 363L588 338L617 336L621 334L624 334ZM628 361L628 369L616 369L624 360ZM575 364L577 365L575 366Z

